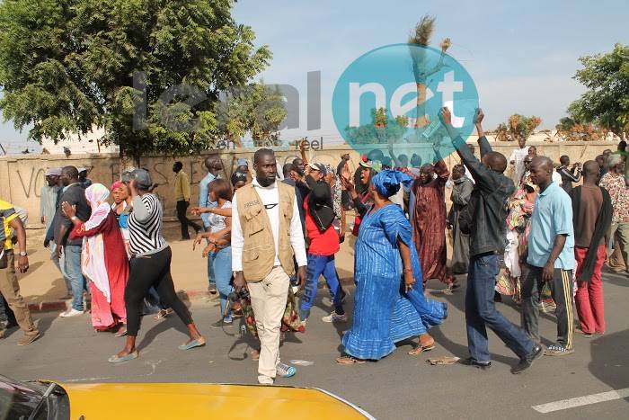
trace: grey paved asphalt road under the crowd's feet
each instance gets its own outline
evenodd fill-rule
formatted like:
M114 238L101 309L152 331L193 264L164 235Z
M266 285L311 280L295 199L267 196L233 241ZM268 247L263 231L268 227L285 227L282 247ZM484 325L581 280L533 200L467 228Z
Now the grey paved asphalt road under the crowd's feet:
M281 349L285 362L302 359L314 365L299 367L296 377L278 383L330 390L380 419L626 418L626 398L550 414L532 408L629 387L629 279L606 274L605 291L607 335L594 339L578 335L574 354L544 357L530 371L514 376L509 367L517 360L495 335L490 339L490 371L461 365L430 366L425 362L429 354L466 355L463 291L450 297L432 292L436 298L450 302L446 324L433 330L439 346L432 353L412 357L406 354L410 345L403 344L380 362L337 366L333 360L339 354L341 331L347 326L319 321L325 314L323 309L327 310L320 290L306 335L290 336ZM517 308L509 303L499 308L518 322ZM206 347L190 352L178 350L177 345L185 341L179 319L157 322L147 317L138 340L140 358L118 366L111 366L107 358L120 350L122 339L94 333L87 316L61 319L56 314L38 314L44 336L36 344L17 347L20 333L16 330L0 341L0 373L18 380L254 383L256 363L246 355L246 340L209 327L218 317L214 304L195 304L192 310L208 338ZM549 344L555 335L553 317L545 316L540 327L545 344ZM237 334L237 327L231 329L229 334Z

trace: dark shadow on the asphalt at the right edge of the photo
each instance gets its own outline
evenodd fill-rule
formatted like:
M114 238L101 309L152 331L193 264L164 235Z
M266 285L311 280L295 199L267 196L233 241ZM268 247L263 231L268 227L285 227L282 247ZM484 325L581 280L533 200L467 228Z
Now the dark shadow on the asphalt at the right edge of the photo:
M612 389L629 387L629 329L600 335L590 343L592 360L588 369L594 377ZM629 402L629 398L624 398Z

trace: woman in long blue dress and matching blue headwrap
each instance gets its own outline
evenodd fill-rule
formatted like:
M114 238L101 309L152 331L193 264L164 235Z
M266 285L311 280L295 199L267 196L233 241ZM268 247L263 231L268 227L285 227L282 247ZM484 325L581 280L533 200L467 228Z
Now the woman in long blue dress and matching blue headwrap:
M369 184L374 206L368 209L358 199L348 174L346 189L363 216L354 261L354 314L342 337L345 355L339 364L379 360L394 351L394 343L419 336L419 345L409 354L434 348L430 326L447 317L447 304L426 299L422 290L421 265L412 243L411 224L400 206L389 197L411 177L385 170Z

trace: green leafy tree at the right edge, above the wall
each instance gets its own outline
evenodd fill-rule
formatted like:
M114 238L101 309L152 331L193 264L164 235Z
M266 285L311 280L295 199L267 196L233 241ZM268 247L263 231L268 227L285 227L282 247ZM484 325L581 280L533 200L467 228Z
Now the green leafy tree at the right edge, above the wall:
M629 46L616 44L612 51L582 57L580 62L583 68L574 78L588 90L571 103L571 118L628 136Z

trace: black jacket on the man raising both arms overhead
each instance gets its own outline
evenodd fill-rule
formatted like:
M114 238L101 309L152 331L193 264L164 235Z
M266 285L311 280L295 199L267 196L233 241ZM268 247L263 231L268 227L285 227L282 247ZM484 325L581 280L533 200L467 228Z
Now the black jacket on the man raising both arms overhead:
M507 243L507 200L515 192L513 182L483 165L460 136L452 143L475 182L467 214L462 216L469 227L470 257L487 253L501 255ZM484 136L478 143L481 157L492 151Z

